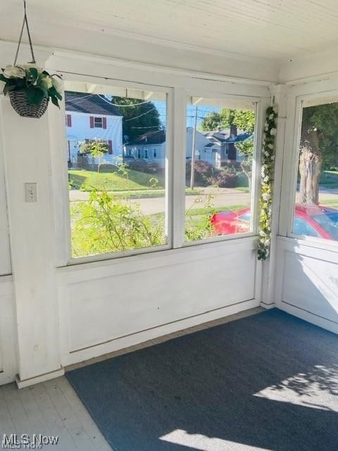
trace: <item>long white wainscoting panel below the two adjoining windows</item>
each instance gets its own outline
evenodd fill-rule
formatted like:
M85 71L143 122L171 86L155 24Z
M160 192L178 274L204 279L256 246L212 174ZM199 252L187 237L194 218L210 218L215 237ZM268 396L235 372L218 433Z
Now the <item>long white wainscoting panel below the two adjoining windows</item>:
M63 365L259 304L252 239L61 268L58 278Z

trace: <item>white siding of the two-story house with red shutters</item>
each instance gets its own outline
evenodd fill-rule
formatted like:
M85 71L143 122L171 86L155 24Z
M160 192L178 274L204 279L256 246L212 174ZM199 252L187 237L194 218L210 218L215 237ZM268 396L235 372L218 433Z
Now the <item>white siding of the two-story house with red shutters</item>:
M112 161L117 156L122 156L122 116L94 115L91 113L77 113L75 111L65 111L71 117L71 126L67 129L67 155L72 163L77 162L79 152L79 142L84 140L103 140L112 142L113 153L106 154L104 160ZM106 118L106 128L90 128L90 116Z

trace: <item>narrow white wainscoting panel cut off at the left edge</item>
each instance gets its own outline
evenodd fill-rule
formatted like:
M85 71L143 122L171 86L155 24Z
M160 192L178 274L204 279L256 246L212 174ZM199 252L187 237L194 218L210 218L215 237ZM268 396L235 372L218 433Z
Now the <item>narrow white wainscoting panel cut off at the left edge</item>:
M18 372L13 297L11 276L0 277L0 385L14 381Z

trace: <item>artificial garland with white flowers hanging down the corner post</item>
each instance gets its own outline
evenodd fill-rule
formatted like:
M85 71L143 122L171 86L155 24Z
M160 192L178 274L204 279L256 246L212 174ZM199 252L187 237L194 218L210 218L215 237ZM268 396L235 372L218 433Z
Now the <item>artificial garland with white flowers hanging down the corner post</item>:
M277 113L273 106L266 110L262 146L261 197L259 199L258 260L270 254L271 216L273 203L273 168L275 163L275 136Z

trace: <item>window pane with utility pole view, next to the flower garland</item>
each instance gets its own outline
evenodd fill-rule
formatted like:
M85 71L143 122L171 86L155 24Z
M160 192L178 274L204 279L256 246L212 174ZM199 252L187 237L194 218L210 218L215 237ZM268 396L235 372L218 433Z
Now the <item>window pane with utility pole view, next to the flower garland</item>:
M255 116L256 104L189 97L186 242L251 231Z

